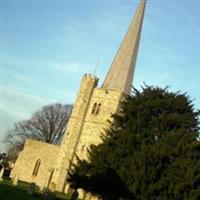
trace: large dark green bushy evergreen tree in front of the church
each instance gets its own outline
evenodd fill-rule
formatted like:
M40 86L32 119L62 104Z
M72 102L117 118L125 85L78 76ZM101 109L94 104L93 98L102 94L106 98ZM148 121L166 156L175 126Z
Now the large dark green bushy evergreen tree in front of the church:
M199 115L186 94L135 89L103 143L90 146L87 161L77 158L71 187L109 200L200 199Z

